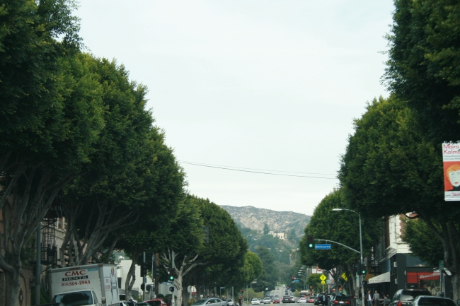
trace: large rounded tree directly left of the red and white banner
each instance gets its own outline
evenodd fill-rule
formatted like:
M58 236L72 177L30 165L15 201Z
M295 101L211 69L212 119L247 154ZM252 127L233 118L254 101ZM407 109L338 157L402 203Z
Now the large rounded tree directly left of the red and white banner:
M417 118L395 96L369 104L367 112L355 121L355 134L342 158L340 182L345 201L362 215L415 212L425 220L442 244L457 299L460 209L446 209L441 154L417 129Z

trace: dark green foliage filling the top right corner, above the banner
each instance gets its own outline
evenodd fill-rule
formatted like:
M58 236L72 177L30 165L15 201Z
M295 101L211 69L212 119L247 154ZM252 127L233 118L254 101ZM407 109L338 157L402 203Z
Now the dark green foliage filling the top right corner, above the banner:
M460 4L396 0L389 61L390 90L418 118L432 143L457 141L460 123Z

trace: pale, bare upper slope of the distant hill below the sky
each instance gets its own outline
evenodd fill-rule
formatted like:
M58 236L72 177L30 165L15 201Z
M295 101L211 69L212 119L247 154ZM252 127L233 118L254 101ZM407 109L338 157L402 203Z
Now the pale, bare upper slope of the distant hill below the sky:
M292 211L271 211L265 208L255 208L253 206L227 206L221 205L230 213L231 218L236 223L240 223L251 230L263 230L263 225L267 223L270 230L275 233L289 232L294 229L297 236L304 235L304 228L310 222L310 216L303 213Z

